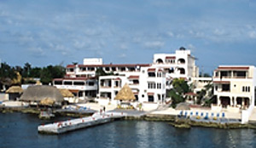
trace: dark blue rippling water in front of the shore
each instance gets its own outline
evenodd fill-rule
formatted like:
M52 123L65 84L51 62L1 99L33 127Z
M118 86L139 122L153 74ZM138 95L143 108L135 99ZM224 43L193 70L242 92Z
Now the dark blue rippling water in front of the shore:
M166 122L116 121L67 134L48 135L38 134L38 125L45 121L39 120L35 115L0 113L0 119L1 148L256 147L256 130L253 129L178 129Z

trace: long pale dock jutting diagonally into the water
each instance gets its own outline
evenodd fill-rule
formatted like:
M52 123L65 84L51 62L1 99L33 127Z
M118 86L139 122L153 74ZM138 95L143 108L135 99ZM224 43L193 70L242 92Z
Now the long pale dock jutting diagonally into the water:
M65 122L55 122L38 126L38 132L43 134L63 134L80 128L100 125L111 122L115 119L125 117L122 112L106 112L100 114L96 112L91 117L81 117L78 119L67 120Z

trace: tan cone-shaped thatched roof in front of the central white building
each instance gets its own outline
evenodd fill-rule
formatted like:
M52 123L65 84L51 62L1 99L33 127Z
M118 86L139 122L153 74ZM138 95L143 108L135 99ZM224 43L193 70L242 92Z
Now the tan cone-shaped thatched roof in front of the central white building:
M115 96L115 100L136 100L131 88L127 83L119 90L119 93Z

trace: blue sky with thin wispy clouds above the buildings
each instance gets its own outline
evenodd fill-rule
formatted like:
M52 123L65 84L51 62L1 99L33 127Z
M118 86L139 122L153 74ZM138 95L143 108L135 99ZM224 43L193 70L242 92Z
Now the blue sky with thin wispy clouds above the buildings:
M180 47L202 72L256 65L256 0L0 0L9 65L148 64Z

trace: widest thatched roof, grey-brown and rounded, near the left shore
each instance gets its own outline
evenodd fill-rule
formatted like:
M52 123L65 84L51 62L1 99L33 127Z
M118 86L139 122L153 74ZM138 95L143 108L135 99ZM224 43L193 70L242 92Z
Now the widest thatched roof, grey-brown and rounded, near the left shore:
M35 85L28 87L21 95L20 100L40 102L46 98L54 100L55 103L61 103L63 101L61 92L57 88L48 85Z

